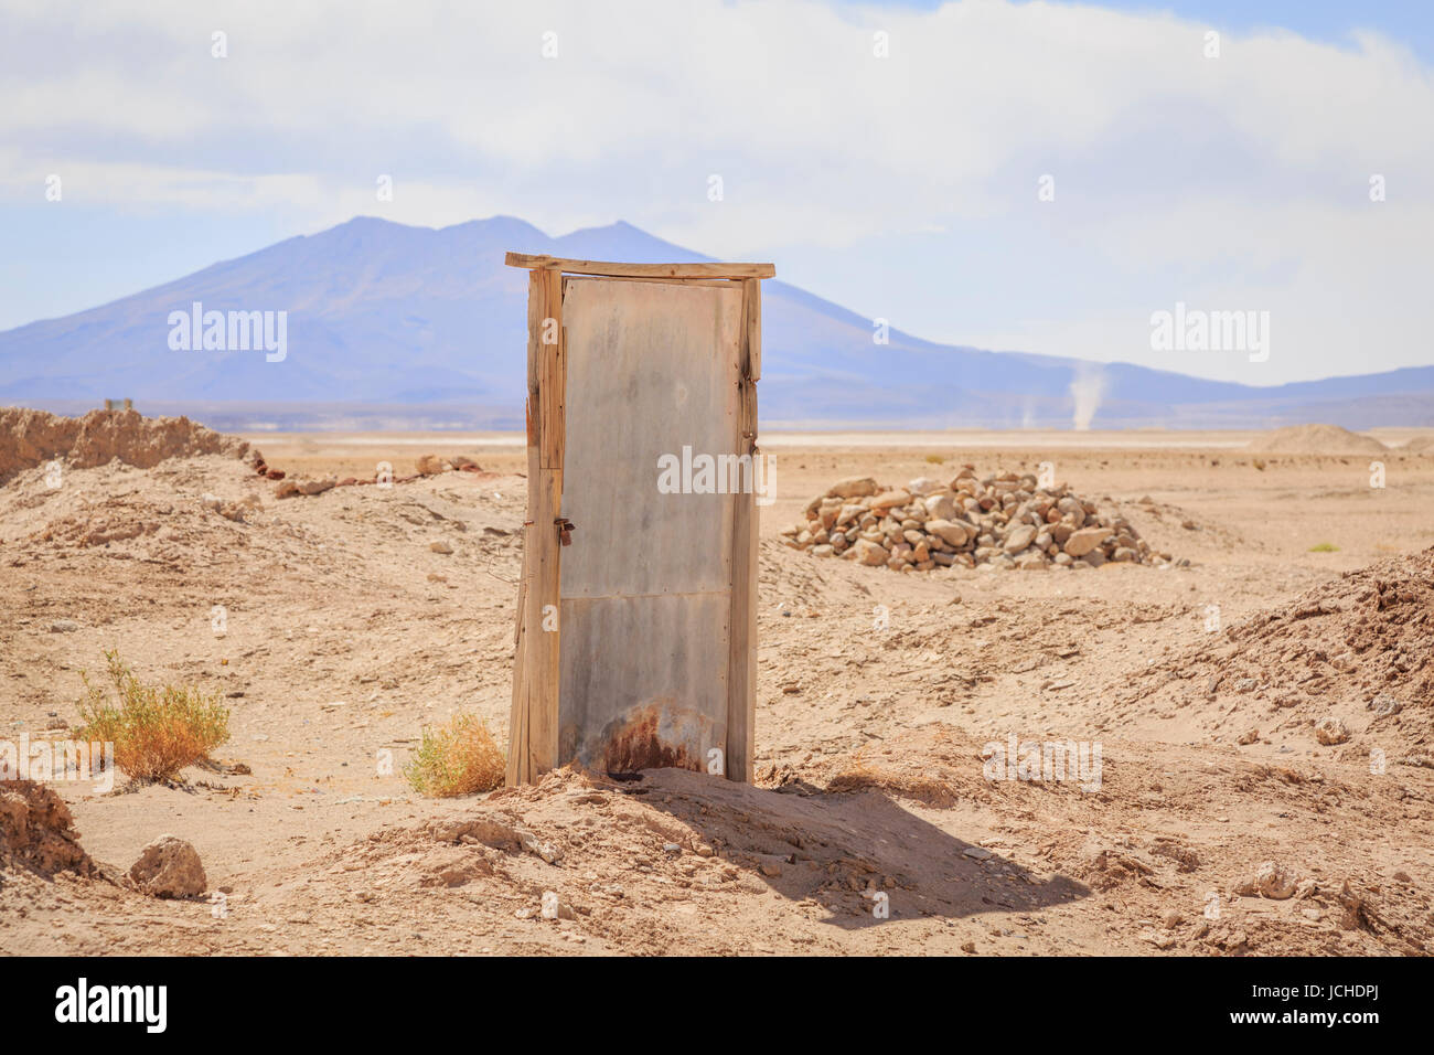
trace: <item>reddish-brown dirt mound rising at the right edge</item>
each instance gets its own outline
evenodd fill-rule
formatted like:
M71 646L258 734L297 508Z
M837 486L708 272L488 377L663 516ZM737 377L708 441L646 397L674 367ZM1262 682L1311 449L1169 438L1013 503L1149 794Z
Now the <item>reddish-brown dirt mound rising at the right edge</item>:
M1219 700L1223 732L1248 736L1242 744L1273 736L1434 766L1431 639L1434 548L1345 573L1152 666L1150 679L1166 680L1137 699L1203 693Z

